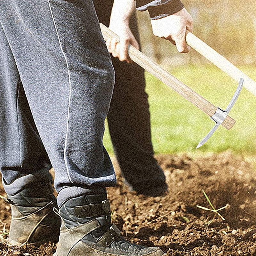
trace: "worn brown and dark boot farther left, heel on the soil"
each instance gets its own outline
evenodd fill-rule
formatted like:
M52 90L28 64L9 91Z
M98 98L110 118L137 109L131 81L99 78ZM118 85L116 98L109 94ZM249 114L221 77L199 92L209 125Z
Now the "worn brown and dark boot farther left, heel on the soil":
M4 184L4 180L3 180ZM6 192L11 192L4 184ZM53 212L57 208L50 183L28 184L14 194L7 194L5 201L11 205L12 219L7 241L10 245L24 243L39 246L52 241L57 243L60 235L60 217Z

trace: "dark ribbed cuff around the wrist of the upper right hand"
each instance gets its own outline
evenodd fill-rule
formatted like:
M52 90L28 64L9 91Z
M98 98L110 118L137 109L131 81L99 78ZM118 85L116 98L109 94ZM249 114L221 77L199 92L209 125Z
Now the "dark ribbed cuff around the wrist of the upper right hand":
M151 20L157 20L179 12L183 7L180 0L172 0L166 4L148 6L148 12Z

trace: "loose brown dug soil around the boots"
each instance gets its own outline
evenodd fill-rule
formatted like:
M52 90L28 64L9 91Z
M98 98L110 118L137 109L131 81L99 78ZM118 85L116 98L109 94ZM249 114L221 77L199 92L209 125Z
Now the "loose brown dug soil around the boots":
M129 190L113 159L117 186L108 188L112 219L129 241L158 246L174 255L256 255L255 163L230 152L204 157L160 155L169 194L163 197L137 195ZM215 209L212 209L202 189ZM0 187L0 193L4 190ZM10 224L10 206L0 203L0 233ZM7 246L0 235L0 255L50 256L55 244L40 248Z

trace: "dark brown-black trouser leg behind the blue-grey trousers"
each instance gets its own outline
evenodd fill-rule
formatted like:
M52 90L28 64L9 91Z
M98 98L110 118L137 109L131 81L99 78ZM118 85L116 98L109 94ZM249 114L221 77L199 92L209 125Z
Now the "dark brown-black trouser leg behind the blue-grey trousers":
M135 15L130 19L130 26L139 41ZM117 58L112 58L112 61L116 81L108 125L118 163L135 191L161 195L167 185L164 172L154 158L144 70L137 64L129 65Z

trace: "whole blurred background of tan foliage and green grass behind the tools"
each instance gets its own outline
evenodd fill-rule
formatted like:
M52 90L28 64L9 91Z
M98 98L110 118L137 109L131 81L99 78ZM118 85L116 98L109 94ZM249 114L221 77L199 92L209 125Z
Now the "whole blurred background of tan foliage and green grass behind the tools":
M191 14L193 33L256 81L256 0L182 0ZM148 12L136 12L142 51L214 105L225 109L238 85L195 50L177 52L153 35ZM136 85L135 85L136 86ZM199 149L197 143L214 122L198 108L146 72L152 142L156 154L220 153L230 150L256 163L256 98L242 89L230 116L236 125L223 127ZM108 126L104 145L113 155Z

